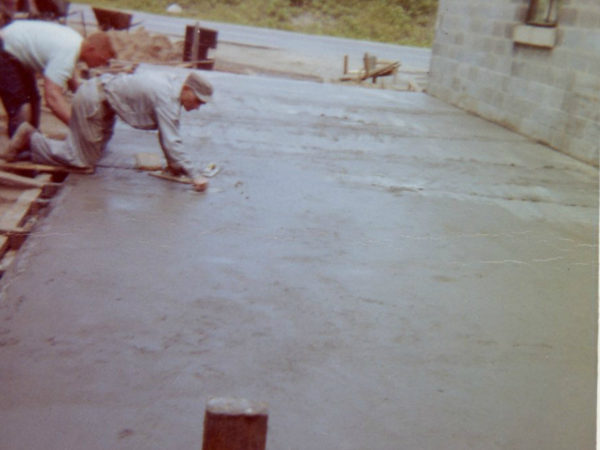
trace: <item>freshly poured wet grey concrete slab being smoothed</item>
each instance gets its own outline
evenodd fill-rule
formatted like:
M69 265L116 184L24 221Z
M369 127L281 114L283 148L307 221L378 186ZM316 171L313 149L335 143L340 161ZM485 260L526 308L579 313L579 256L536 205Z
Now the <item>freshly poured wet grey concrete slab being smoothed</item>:
M208 73L208 192L119 125L2 279L0 448L592 449L596 169L425 94Z

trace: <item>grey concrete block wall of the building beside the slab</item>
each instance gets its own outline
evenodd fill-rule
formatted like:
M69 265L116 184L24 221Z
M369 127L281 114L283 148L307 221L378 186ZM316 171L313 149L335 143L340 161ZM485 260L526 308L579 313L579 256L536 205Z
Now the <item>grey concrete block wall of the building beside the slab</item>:
M600 0L560 0L550 48L513 40L528 4L439 0L427 90L598 166Z

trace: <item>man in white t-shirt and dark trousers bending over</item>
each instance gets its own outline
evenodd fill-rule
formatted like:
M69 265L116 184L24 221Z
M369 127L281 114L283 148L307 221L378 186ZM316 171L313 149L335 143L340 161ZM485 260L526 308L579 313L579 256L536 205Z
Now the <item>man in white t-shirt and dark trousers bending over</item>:
M18 20L0 30L0 39L0 98L8 114L9 136L22 122L39 126L37 73L43 76L48 107L68 124L71 107L64 90L77 89L76 63L99 67L116 56L106 33L83 38L72 28L53 22Z

